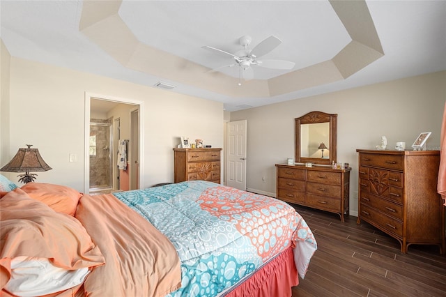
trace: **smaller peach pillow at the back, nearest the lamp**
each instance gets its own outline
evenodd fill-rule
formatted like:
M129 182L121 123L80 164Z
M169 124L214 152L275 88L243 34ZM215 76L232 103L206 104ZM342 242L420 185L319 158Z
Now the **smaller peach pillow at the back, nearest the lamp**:
M21 189L29 197L47 204L57 213L66 213L72 216L75 215L77 202L82 197L82 193L75 189L52 183L26 183Z

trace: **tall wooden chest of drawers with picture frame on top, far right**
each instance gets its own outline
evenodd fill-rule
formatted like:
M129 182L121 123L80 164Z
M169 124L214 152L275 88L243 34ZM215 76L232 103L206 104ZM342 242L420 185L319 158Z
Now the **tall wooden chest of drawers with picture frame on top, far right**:
M359 153L358 218L401 244L440 245L445 252L445 210L437 193L439 151Z

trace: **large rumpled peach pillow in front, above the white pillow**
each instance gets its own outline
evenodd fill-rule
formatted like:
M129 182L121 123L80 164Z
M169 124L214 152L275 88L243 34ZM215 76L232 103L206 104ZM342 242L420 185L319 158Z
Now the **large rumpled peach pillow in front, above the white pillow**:
M0 199L0 211L0 289L10 280L16 257L45 258L68 270L105 264L79 220L56 213L20 188Z

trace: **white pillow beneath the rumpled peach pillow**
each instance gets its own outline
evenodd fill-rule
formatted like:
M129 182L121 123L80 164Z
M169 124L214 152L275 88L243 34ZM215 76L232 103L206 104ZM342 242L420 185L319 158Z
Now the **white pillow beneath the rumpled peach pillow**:
M11 277L4 289L17 296L41 296L82 284L89 268L66 270L47 258L15 257L11 260Z

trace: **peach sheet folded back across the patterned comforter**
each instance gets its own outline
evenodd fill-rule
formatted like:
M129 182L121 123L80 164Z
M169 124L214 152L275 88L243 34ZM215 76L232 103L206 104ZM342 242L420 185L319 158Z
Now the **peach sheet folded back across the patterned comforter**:
M171 242L113 195L84 195L76 218L105 257L79 296L165 296L181 285L180 260Z

